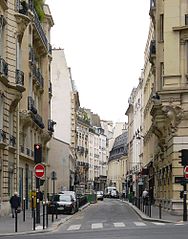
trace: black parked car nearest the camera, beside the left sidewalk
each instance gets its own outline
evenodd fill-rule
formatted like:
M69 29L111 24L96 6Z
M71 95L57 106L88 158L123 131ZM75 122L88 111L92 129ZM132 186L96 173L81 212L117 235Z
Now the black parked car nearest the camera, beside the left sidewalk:
M54 211L53 211L54 210ZM76 203L71 195L57 194L48 205L48 213L70 213L76 212Z

